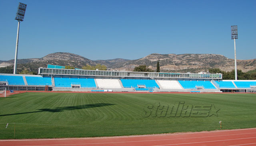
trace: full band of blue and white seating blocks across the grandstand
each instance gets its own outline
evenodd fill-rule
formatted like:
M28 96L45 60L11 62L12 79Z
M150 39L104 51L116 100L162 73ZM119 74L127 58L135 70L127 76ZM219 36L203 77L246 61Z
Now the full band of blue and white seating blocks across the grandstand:
M8 75L0 74L1 82L8 82L8 85L21 85L25 86L27 82L29 86L52 86L52 79L50 77L41 76L26 76L26 75ZM124 88L136 88L139 90L148 90L149 88L162 89L194 89L196 87L203 87L204 89L216 89L210 81L170 81L170 80L158 80L158 84L155 80L131 80L120 79ZM122 88L118 79L96 79L99 88ZM86 78L54 78L56 87L68 87L72 85L79 85L81 88L96 88L94 79ZM215 84L215 83L214 83ZM218 84L218 85L216 85ZM251 88L256 86L256 81L235 81L235 80L220 80L216 81L218 88Z

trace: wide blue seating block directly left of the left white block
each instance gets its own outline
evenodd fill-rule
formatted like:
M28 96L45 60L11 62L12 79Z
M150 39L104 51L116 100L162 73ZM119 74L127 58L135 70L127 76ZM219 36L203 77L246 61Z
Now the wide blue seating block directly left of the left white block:
M86 78L54 78L56 87L71 87L71 84L79 84L81 88L96 88L94 79Z

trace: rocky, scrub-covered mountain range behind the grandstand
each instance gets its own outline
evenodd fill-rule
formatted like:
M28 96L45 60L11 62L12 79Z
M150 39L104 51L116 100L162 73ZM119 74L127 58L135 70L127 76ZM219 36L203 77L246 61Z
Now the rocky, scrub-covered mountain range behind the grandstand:
M128 60L122 58L109 60L90 60L80 55L72 53L51 53L42 58L18 59L18 69L28 69L38 71L39 67L47 67L47 64L60 66L73 66L82 68L86 64L102 64L111 70L132 71L139 65L149 66L150 69L156 70L156 64L159 61L161 72L200 72L207 71L209 68L220 68L224 71L234 69L234 59L227 58L217 54L158 54L153 53L143 58ZM14 59L3 61L0 60L0 67L13 66ZM250 60L237 60L238 70L247 72L256 69L256 58Z

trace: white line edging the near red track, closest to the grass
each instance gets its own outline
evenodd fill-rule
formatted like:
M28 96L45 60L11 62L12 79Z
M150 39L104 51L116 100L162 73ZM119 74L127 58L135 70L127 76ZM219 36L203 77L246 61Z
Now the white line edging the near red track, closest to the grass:
M203 131L203 132L187 132L187 133L173 133L173 134L148 134L148 135L131 135L131 136L112 136L112 137L86 137L86 138L49 138L49 139L9 139L1 141L34 141L34 140L77 140L77 139L104 139L104 138L130 138L130 137L146 137L146 136L168 136L168 135L183 135L183 134L200 134L212 132L226 132L226 131L239 131L239 130L252 130L256 128L246 129L233 129L233 130L216 130L216 131Z

